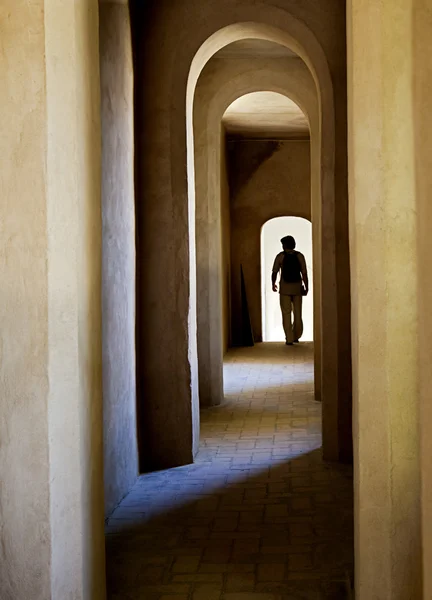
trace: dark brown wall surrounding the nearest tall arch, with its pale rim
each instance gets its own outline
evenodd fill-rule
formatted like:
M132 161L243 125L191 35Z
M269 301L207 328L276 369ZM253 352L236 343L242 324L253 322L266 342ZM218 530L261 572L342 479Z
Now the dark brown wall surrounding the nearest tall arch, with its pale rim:
M142 410L140 429L152 455L150 462L172 466L190 460L193 454L198 383L194 278L189 277L193 275L190 258L195 235L188 235L192 231L193 210L187 179L190 157L186 138L190 133L187 134L181 107L191 110L199 74L218 49L230 40L268 39L288 45L311 68L324 111L320 136L334 144L332 80L345 77L345 7L340 2L324 5L315 0L301 4L295 0L241 4L210 0L199 6L193 0L162 0L136 2L134 14L137 100L141 112L137 202L138 406ZM154 61L156 54L158 60ZM343 115L339 116L343 120ZM339 125L336 138L336 153L343 153L344 136ZM335 232L335 160L335 151L326 154L321 173L322 194L330 203L323 220L323 245L329 248L326 279L328 288L338 294L332 248L336 237L343 245L346 235L343 230ZM346 203L346 190L339 192L338 202ZM172 260L160 269L159 257L163 255ZM164 303L161 298L165 298ZM338 306L339 296L336 303L326 301L326 327L336 338L340 325L349 323L347 307L341 308L342 318L338 317ZM326 389L331 397L338 398L341 373L344 380L349 379L349 353L339 354L336 341L323 353L323 359L338 365L337 369L322 369L326 373ZM349 398L344 402L349 405ZM338 411L332 415L329 430L338 422L338 415ZM146 425L149 422L153 423L150 428ZM329 455L337 458L337 436L333 439L336 443Z

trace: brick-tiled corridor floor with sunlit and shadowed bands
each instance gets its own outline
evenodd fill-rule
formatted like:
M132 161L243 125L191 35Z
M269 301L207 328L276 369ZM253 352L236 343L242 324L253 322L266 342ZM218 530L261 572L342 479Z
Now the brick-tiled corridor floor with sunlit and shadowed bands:
M310 344L233 350L196 464L141 477L107 525L111 600L348 598L352 475L321 460Z

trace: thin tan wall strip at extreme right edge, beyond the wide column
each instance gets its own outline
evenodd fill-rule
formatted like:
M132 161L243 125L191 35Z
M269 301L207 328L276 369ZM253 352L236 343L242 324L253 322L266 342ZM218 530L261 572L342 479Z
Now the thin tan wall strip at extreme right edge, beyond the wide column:
M432 5L429 0L412 4L412 62L414 161L417 207L418 373L420 394L420 443L422 477L423 597L432 598L432 404L430 366L432 356Z

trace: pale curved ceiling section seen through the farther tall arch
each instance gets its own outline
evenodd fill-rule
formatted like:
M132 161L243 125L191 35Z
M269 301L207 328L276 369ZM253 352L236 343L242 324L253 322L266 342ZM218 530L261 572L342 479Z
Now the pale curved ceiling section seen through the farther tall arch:
M222 123L230 138L309 139L309 124L303 111L276 92L254 92L228 107Z

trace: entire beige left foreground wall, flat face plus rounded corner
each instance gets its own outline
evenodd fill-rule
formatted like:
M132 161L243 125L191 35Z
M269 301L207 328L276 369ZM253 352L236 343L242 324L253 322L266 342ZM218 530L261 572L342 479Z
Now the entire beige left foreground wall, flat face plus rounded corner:
M0 597L104 597L97 2L0 18Z

